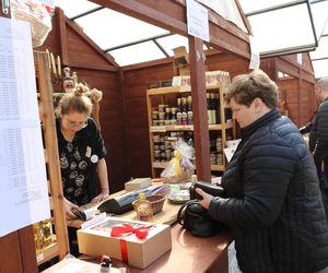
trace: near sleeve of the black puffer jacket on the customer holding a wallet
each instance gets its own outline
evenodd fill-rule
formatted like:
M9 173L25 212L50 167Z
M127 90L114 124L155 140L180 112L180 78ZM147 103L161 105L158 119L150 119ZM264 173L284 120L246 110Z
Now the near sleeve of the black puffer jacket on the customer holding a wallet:
M210 215L233 226L269 226L281 212L297 158L282 143L256 145L242 161L244 197L214 198Z

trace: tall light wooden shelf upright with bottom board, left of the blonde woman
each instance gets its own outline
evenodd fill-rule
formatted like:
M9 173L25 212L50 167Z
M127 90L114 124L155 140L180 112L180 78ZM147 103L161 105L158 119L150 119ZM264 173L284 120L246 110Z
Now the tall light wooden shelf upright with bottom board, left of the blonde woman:
M56 228L56 241L36 251L37 264L42 264L55 257L59 260L69 252L68 232L66 213L63 207L63 193L61 186L61 174L57 145L56 121L52 103L52 86L47 55L34 52L36 79L39 92L39 99L44 114L44 144L45 158L48 174L50 207L52 209L54 223Z

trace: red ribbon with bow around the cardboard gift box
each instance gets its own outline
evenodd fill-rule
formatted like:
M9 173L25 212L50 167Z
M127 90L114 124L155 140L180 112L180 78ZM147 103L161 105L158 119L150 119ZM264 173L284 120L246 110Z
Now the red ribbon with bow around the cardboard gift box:
M140 227L132 227L129 224L122 224L121 226L114 226L112 227L110 237L118 237L118 236L129 236L131 234L136 234L137 238L144 239L148 236L149 229L152 227L150 226L140 226ZM119 240L120 244L120 253L121 260L125 263L128 263L128 246L125 239Z

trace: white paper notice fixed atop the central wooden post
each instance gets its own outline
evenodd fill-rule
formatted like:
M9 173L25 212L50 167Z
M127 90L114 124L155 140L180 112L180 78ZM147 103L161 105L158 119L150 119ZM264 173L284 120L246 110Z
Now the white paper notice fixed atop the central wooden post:
M194 0L187 0L187 26L188 34L210 41L208 9Z

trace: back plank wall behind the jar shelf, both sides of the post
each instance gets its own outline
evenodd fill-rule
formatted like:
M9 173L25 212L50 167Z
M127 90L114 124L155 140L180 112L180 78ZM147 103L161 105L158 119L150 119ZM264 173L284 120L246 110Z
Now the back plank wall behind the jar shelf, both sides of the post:
M207 70L230 71L232 76L248 71L248 62L232 55L207 57ZM143 68L125 68L126 134L131 177L151 176L150 140L147 111L147 83L172 79L173 60L166 59Z

